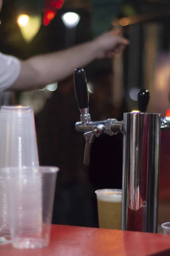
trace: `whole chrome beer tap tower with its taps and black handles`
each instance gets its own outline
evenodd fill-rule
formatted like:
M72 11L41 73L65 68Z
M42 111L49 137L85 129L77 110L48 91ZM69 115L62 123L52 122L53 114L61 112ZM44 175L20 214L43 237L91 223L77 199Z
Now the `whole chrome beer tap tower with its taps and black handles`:
M147 90L138 92L136 113L124 113L123 121L91 121L85 71L77 68L74 84L80 109L76 130L86 140L84 163L89 164L91 144L100 134L123 134L122 230L157 233L160 130L170 129L170 118L146 113L150 99ZM116 145L113 145L113 147ZM113 167L114 172L114 167Z

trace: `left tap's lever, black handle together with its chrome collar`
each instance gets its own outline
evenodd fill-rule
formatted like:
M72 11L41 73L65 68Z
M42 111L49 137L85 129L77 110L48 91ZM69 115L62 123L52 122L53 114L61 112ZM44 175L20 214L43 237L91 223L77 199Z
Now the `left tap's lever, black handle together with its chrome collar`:
M77 103L79 105L79 110L81 113L81 121L90 121L89 111L89 96L88 96L88 86L87 79L85 76L85 71L82 68L77 68L74 71L74 85L77 96Z

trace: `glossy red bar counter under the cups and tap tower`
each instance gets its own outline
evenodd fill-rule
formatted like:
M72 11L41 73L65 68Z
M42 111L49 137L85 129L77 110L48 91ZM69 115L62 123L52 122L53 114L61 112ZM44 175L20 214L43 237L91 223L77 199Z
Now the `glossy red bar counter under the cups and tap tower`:
M52 225L43 249L0 245L0 256L170 256L170 236L120 230Z

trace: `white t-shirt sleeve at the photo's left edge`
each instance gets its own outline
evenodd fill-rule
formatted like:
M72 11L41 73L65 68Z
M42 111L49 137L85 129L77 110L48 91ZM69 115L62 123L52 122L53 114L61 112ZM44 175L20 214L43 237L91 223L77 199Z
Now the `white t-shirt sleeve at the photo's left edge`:
M21 70L20 60L0 52L0 91L7 90L17 80Z

